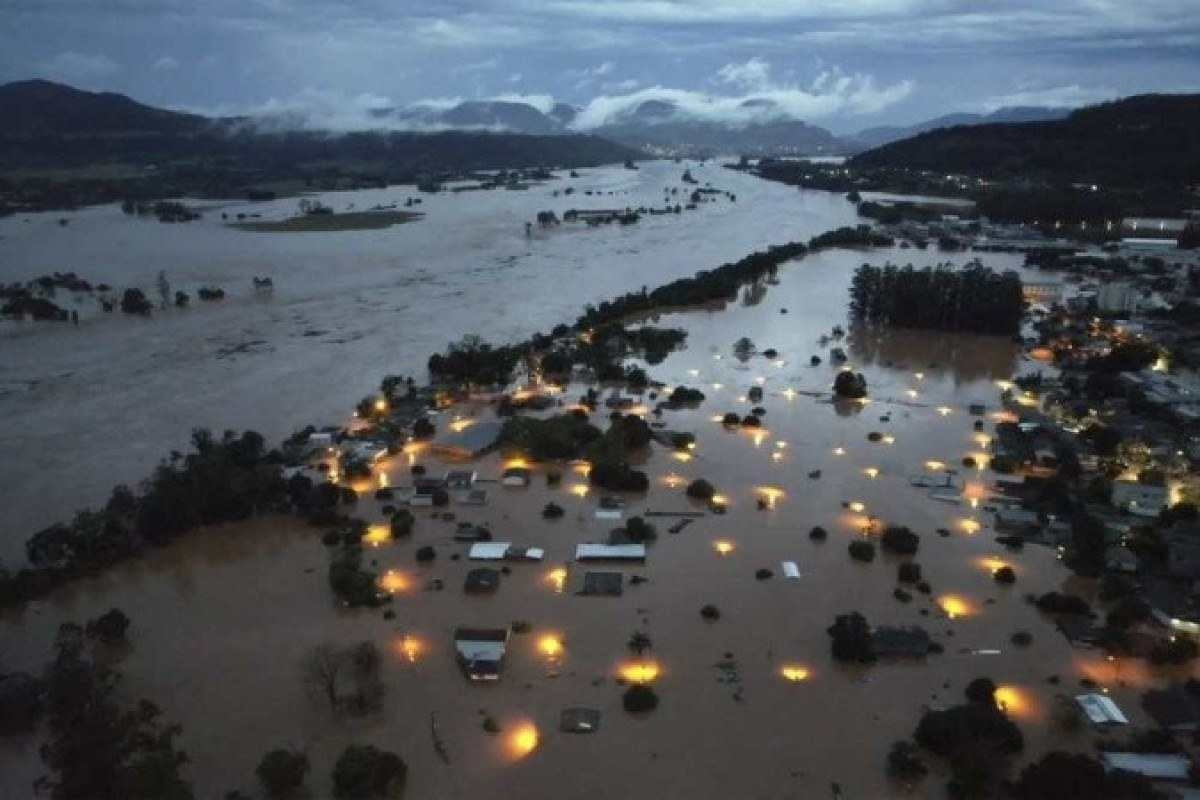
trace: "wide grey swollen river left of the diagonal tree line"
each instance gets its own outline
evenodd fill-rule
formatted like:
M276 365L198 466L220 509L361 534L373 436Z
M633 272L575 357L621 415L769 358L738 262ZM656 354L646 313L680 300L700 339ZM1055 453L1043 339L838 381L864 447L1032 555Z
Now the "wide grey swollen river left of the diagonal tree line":
M679 188L672 203L686 201L685 168L737 201L636 225L524 235L544 209L660 207L666 187ZM576 193L552 197L568 186ZM343 211L416 196L392 187L318 197ZM383 375L424 377L428 355L463 333L522 339L574 320L588 302L854 222L840 196L714 162L586 169L528 191L424 196L416 209L419 222L319 234L250 233L221 219L283 218L295 199L210 204L186 224L131 218L115 205L0 219L0 282L74 271L156 300L164 270L172 291L192 295L191 308L132 319L60 293L60 303L79 309L78 329L0 323L0 559L18 563L34 530L102 504L116 482L143 479L186 447L192 427L253 428L278 440L310 422L337 422ZM272 278L272 295L256 295L256 276ZM202 303L204 285L229 296Z

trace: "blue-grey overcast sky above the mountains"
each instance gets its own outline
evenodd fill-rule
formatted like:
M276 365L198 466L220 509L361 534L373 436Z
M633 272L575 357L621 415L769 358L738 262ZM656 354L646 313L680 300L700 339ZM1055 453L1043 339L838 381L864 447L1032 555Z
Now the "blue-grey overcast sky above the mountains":
M1200 0L0 0L0 79L208 113L767 97L835 132L1200 86Z

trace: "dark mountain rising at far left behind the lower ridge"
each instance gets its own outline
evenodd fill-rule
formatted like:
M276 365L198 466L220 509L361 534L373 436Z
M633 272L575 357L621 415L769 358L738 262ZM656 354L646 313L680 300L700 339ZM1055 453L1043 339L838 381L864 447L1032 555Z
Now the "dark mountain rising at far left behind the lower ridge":
M90 92L49 80L0 86L5 137L192 133L210 121L196 114L151 108L113 92Z

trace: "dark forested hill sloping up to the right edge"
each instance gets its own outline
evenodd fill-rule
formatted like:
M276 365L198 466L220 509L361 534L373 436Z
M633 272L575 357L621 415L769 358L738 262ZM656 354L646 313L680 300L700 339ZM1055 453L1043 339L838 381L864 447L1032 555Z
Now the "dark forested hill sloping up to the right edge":
M905 167L1103 186L1200 184L1200 95L1139 95L1045 122L940 128L859 154Z

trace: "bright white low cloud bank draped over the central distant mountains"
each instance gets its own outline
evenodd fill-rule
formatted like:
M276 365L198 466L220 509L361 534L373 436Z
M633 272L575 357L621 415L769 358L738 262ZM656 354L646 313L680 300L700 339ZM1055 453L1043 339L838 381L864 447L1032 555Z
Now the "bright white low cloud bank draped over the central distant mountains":
M592 130L619 122L647 101L676 107L685 119L748 125L769 119L818 120L833 115L875 114L912 94L911 80L880 86L869 74L826 70L808 85L774 83L770 67L760 59L730 64L716 73L716 83L740 89L740 94L709 94L667 86L601 95L588 102L572 122Z

